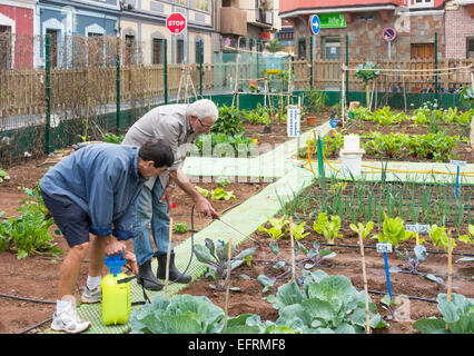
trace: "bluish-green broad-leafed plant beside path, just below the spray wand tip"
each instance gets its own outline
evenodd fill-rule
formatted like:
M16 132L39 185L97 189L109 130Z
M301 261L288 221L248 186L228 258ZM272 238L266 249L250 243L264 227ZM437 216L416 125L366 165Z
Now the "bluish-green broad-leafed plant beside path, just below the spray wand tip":
M211 277L218 283L217 287L210 285L211 288L224 290L225 278L228 270L228 243L218 240L216 244L210 238L206 238L205 245L195 245L194 253L198 261L205 264L208 267L206 277ZM234 255L236 247L233 245L231 255ZM239 253L237 256L230 258L230 270L244 264L244 258L254 254L255 247L247 248ZM238 290L238 288L230 288L231 290Z

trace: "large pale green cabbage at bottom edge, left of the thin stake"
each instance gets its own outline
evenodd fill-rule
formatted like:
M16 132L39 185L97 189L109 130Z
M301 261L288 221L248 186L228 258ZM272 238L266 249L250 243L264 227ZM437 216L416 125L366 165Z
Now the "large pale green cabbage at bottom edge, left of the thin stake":
M267 300L278 309L276 325L285 325L302 334L356 334L363 333L365 318L365 295L357 291L350 279L344 276L328 276L318 270L305 278L303 290L296 283L287 283ZM369 304L369 326L383 328L387 324Z

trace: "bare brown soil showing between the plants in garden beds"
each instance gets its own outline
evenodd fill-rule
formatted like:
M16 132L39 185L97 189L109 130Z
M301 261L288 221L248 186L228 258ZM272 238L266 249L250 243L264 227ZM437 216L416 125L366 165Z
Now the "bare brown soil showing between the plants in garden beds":
M326 116L320 116L320 122L327 120ZM317 123L317 125L319 125ZM277 126L278 130L286 130L286 126ZM274 127L275 128L275 127ZM255 135L261 130L261 127L248 128L249 132ZM303 130L306 130L307 127L303 127ZM278 132L278 131L274 131ZM280 135L282 135L280 134ZM251 134L249 134L251 135ZM266 134L268 135L268 134ZM266 137L265 134L259 135L259 142L267 140L270 144L276 144L278 140L285 140L285 135L275 134L274 137ZM8 174L10 180L2 182L0 185L0 211L6 211L6 216L18 216L19 212L17 208L22 204L22 199L26 198L26 195L22 190L19 190L18 187L28 187L33 188L42 175L48 170L48 165L43 164L43 159L31 159L26 160L22 165L10 167ZM199 181L196 181L196 185L205 189L214 189L216 184L208 177L200 177ZM213 206L218 212L224 212L226 209L231 209L234 205L239 204L248 199L249 197L258 194L267 182L230 182L226 190L234 190L236 195L236 200L229 201L215 201L213 200ZM192 205L189 197L182 192L180 189L176 189L175 201L177 207L171 210L171 217L175 222L187 222L187 226L190 227L190 207ZM200 230L205 228L210 222L209 218L200 217L195 215L195 229ZM309 224L307 224L309 225ZM50 301L46 303L33 303L28 300L18 300L11 297L0 296L0 334L18 334L24 332L27 328L34 326L41 322L45 322L52 317L56 303L56 293L57 284L59 276L59 268L61 266L62 258L67 255L69 248L66 244L66 240L61 236L56 236L52 231L56 229L56 226L51 227L51 235L55 237L55 243L57 247L62 249L62 254L58 257L50 256L40 256L40 255L30 255L23 259L18 259L17 255L12 253L0 253L0 294L17 296L23 298L33 298L39 300ZM310 230L310 229L308 229ZM175 234L175 244L179 245L184 239L189 237L190 233L187 234ZM349 231L344 231L350 236ZM353 235L354 236L354 233ZM258 239L264 248L263 250L256 249L251 265L243 265L239 268L235 269L231 274L231 286L239 287L240 291L231 291L229 300L229 315L235 316L244 313L253 313L260 315L261 320L276 320L278 318L278 313L273 306L266 301L266 297L269 293L275 293L276 288L287 280L278 281L271 291L263 293L261 285L257 281L257 277L260 274L266 274L268 276L277 276L280 271L275 271L271 267L277 258L268 248L268 239L264 233L257 231L253 235L254 239ZM324 241L320 236L317 236L316 233L310 233L309 236L305 237L302 243L306 246L310 246L314 240ZM290 259L290 247L288 239L283 239L280 244L280 256L278 260ZM357 239L354 237L346 237L344 239L337 240L336 244L352 244L356 245ZM366 245L374 245L374 240L366 241ZM131 241L127 243L127 246L132 250ZM238 250L255 247L254 243L246 240L243 243ZM403 247L403 246L402 246ZM413 244L409 246L413 248ZM432 246L427 245L428 249L435 249ZM356 288L363 289L364 284L362 279L362 267L361 267L361 257L359 249L348 248L348 247L333 247L332 250L337 253L337 256L330 259L330 266L324 267L329 275L344 275L352 279ZM461 248L460 248L461 250ZM465 249L465 246L462 247L463 251L473 253L472 248ZM368 275L368 289L386 291L386 281L384 273L384 263L381 254L377 254L373 249L365 249L366 254L366 266ZM302 258L297 256L297 259ZM269 261L275 259L275 261ZM436 273L445 275L446 271L446 260L445 255L438 254L428 254L427 260L418 268L422 273ZM453 259L453 275L464 276L453 278L453 291L463 294L467 297L474 297L474 289L472 288L471 275L474 273L474 266L472 263L455 263L456 258ZM395 266L399 265L401 259L396 257L395 254L389 255L389 265ZM286 267L285 267L286 268ZM75 297L80 299L80 294L86 284L88 271L88 264L85 261L80 269L79 280L75 290ZM249 278L245 277L248 276ZM467 278L468 277L468 278ZM422 298L436 298L438 293L446 293L444 286L437 285L434 281L427 280L418 275L408 275L408 274L392 274L392 289L394 294L403 294L412 297L422 297ZM446 280L445 276L442 276ZM216 291L209 288L209 281L205 278L194 281L187 286L181 294L190 295L204 295L210 298L213 303L220 307L225 307L225 291ZM384 316L384 318L389 317L389 313L382 308L379 299L383 295L371 294L372 299L377 305L377 313ZM383 330L375 330L374 333L383 334L412 334L417 333L412 324L414 320L421 317L428 316L440 316L437 310L436 303L423 301L412 299L409 303L411 306L411 320L409 322L395 322L388 320L391 327ZM50 327L50 323L46 323L41 326L38 326L31 330L28 330L28 334L41 333L46 328Z

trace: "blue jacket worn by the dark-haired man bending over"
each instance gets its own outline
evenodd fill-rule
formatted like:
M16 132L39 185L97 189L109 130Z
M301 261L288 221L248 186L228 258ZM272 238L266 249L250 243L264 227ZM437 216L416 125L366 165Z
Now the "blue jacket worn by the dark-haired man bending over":
M146 181L138 174L138 150L113 144L86 146L53 166L41 179L41 189L53 199L78 204L90 217L90 233L129 239Z

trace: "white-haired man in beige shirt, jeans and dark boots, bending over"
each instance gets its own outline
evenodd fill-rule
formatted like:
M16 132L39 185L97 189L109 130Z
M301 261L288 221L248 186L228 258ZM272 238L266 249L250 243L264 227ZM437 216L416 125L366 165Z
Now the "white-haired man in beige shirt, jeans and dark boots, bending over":
M134 250L138 263L137 281L150 290L160 290L164 286L151 271L151 258L157 257L157 277L165 279L169 240L169 207L171 191L177 185L196 205L196 211L210 216L214 211L210 202L199 194L182 171L186 146L190 146L200 134L208 134L216 122L218 110L209 99L197 100L190 105L176 103L159 106L144 115L128 130L122 145L141 146L150 138L165 140L175 155L174 165L156 178L145 184L137 202L137 217L134 222ZM150 229L158 251L154 250ZM172 244L172 241L171 241ZM175 267L175 253L171 245L169 260L169 280L189 283L191 276L181 274Z

